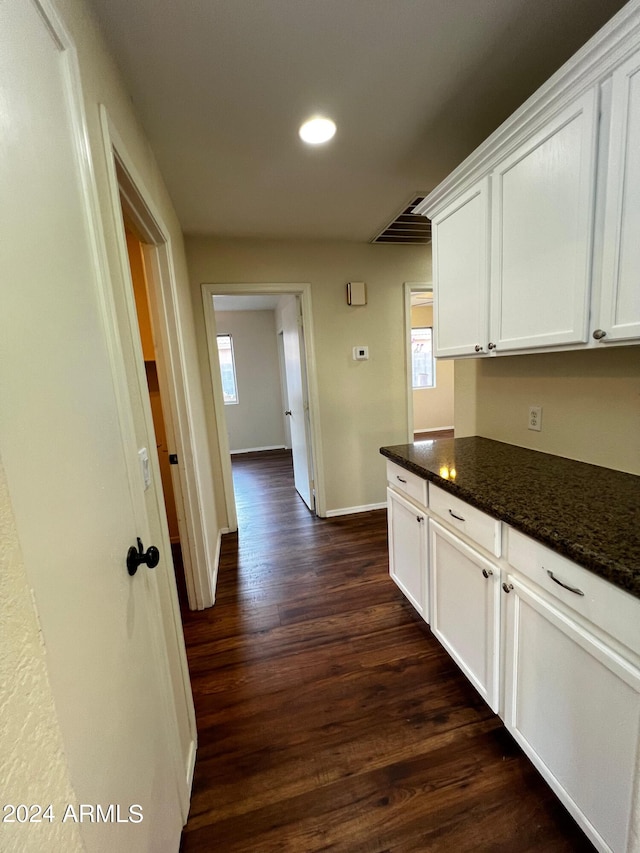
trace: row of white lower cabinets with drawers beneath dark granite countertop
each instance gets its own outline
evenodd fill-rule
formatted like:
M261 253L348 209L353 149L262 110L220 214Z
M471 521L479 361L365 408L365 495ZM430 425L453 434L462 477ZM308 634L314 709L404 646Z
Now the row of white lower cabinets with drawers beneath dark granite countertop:
M596 848L640 853L640 601L431 484L427 499L398 466L388 476L393 580Z

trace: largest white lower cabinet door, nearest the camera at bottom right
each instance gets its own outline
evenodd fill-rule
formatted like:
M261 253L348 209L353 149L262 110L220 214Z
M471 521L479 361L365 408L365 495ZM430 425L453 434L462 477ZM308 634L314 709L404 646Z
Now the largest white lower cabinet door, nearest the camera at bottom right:
M640 672L516 578L504 722L599 850L628 849Z

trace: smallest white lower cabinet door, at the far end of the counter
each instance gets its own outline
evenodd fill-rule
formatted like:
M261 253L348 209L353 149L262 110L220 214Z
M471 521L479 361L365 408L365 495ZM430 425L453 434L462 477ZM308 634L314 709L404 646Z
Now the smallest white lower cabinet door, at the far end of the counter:
M428 621L427 521L414 504L387 489L389 574L422 618Z

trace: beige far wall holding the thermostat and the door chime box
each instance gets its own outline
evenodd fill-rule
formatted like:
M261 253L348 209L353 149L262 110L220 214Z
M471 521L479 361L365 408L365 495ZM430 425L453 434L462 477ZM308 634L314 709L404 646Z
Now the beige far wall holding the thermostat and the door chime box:
M407 435L403 283L430 280L430 248L206 237L186 247L203 371L201 284L311 283L327 509L384 502L378 450ZM366 306L347 305L348 281L367 282ZM369 361L353 361L357 345ZM213 423L210 388L207 396Z

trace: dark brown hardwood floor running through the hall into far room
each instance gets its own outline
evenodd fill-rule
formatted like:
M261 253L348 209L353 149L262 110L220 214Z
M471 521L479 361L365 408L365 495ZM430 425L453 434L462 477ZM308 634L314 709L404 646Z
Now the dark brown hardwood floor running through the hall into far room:
M284 452L233 469L216 605L184 613L183 853L593 850L390 580L385 511L315 518Z

